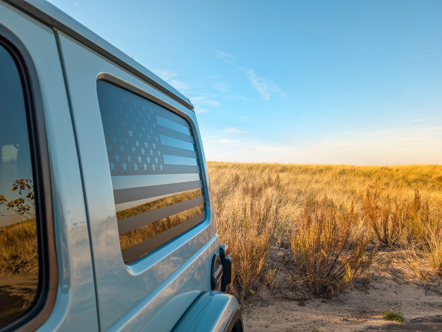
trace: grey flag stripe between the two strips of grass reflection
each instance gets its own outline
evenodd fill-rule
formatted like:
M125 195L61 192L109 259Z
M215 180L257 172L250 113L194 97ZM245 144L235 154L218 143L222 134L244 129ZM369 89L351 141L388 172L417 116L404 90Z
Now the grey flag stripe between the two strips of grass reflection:
M164 206L163 208L148 211L118 220L118 232L120 235L134 229L149 225L155 221L173 216L187 209L204 204L204 196L196 197L180 203Z

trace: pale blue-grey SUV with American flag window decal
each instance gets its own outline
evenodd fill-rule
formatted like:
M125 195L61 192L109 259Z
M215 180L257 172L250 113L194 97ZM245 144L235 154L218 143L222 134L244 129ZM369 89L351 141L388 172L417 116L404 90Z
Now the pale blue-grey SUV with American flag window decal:
M41 1L0 1L0 331L242 331L193 105Z

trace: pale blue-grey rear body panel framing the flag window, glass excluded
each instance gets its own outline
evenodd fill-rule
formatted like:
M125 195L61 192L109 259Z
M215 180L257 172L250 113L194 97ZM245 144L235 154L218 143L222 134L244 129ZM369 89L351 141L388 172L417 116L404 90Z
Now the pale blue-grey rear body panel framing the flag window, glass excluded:
M200 292L210 291L210 258L211 253L216 253L219 244L218 239L214 238L216 225L211 209L209 178L195 114L69 36L59 33L59 42L82 169L100 326L103 330L109 328L141 302L145 303L146 309L151 308L140 310L146 317L143 321L147 322L172 298L188 294L182 298L186 302L182 303L181 310L175 308L169 311L168 320L176 323ZM190 231L130 264L123 262L119 246L107 149L99 113L96 82L103 75L111 75L144 91L149 99L187 119L197 141L200 162L204 165L202 179L206 197L206 219ZM200 258L197 252L208 242L213 242L213 245L208 246L211 253L204 251ZM198 265L191 264L192 261L198 262ZM189 272L180 269L186 262L191 264L186 269L191 271L193 277L185 277ZM115 305L117 302L118 305ZM128 317L128 324L131 319Z

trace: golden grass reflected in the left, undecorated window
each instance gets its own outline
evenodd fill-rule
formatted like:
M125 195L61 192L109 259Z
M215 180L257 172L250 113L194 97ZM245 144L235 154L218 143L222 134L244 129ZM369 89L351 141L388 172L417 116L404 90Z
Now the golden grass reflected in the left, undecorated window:
M0 272L38 273L35 221L26 220L0 227Z

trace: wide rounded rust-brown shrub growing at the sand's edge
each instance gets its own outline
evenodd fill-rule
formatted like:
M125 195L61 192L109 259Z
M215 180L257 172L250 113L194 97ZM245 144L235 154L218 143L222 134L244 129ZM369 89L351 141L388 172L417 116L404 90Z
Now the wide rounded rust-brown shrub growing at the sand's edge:
M333 202L308 202L297 217L290 243L298 281L315 296L329 297L351 284L371 264L368 231L358 231L353 205L338 211Z

